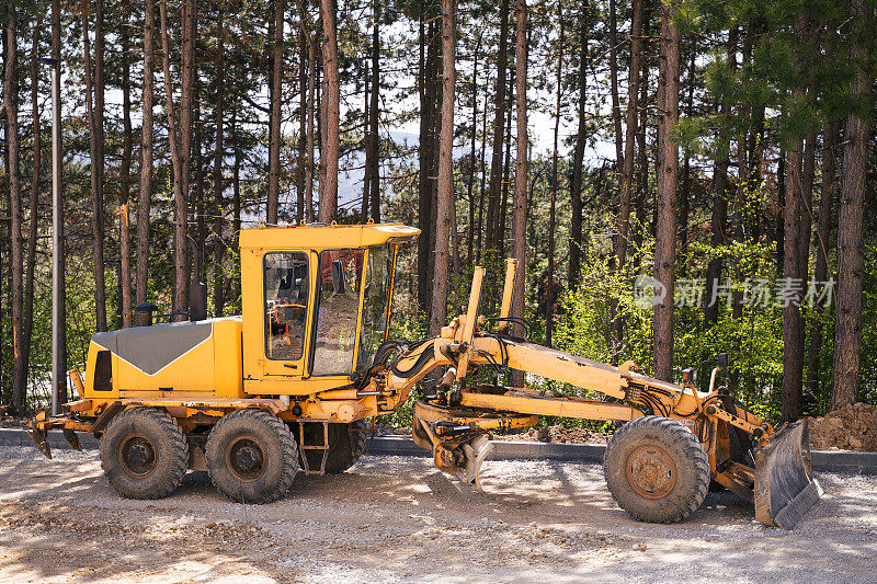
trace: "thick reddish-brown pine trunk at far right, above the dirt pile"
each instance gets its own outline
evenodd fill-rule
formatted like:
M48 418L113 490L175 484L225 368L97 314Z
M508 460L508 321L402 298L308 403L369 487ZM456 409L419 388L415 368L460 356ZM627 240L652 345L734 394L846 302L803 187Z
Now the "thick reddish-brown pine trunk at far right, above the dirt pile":
M872 16L863 0L851 2L851 20L858 42L851 45L856 64L853 98L865 103L874 78L866 69L865 31ZM862 279L865 272L862 221L865 210L865 176L868 168L869 127L864 112L846 117L841 208L838 218L838 305L834 317L834 386L831 408L835 410L856 401L862 357Z

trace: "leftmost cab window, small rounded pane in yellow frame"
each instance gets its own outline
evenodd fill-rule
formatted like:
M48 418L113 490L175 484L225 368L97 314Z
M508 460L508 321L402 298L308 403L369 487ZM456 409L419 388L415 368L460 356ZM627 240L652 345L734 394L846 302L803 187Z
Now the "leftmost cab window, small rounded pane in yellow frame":
M301 252L266 253L265 355L298 360L305 346L308 308L308 256Z

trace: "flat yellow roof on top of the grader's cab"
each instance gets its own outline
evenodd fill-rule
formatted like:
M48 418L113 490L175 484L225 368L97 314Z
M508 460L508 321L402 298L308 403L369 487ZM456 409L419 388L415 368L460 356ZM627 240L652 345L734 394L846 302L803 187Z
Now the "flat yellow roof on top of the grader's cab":
M366 248L391 241L413 241L420 229L403 224L324 225L257 227L242 229L240 247L249 249L323 250Z

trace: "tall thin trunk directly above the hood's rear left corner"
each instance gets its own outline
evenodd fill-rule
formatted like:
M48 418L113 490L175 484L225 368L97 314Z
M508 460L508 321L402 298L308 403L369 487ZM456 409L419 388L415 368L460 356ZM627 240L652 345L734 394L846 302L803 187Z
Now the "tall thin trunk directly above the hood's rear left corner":
M92 96L95 95L94 73L91 68L91 39L89 37L89 4L81 4L82 43L86 56L86 112L89 118L89 159L91 167L91 236L92 257L94 260L94 327L106 330L106 287L103 262L103 124L98 117Z

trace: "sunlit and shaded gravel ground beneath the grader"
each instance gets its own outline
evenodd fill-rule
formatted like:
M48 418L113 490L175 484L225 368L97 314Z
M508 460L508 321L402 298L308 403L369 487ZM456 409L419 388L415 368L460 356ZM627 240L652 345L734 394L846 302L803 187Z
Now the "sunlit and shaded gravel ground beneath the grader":
M485 494L425 458L369 457L241 505L190 473L162 501L121 499L95 451L0 449L2 582L874 582L877 478L819 474L790 531L730 493L677 525L634 522L602 468L488 461Z

